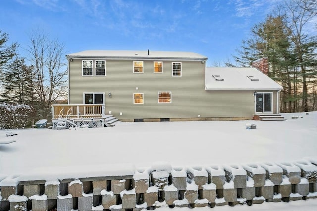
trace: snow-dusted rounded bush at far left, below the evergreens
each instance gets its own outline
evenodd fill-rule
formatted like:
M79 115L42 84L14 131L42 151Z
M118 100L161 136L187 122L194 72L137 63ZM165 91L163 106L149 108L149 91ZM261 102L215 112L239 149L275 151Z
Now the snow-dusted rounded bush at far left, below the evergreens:
M24 128L34 115L32 106L26 104L0 103L0 128Z

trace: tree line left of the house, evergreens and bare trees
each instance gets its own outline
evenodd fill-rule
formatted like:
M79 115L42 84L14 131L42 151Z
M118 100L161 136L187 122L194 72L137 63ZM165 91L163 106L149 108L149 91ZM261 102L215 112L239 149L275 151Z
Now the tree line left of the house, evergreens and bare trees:
M64 45L40 30L29 36L25 57L18 43L8 43L8 34L0 30L0 103L31 106L33 123L50 118L53 103L67 102Z

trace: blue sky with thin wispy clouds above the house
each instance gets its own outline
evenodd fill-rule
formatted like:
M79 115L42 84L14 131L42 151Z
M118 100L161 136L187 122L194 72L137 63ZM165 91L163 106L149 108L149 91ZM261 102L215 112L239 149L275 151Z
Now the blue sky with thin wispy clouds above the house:
M67 53L191 51L207 65L231 59L281 0L0 0L0 29L23 55L39 28Z

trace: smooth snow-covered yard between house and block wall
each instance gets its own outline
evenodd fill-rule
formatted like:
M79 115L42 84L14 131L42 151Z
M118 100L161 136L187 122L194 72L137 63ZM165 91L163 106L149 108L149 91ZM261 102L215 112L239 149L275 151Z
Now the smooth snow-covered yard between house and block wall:
M292 162L307 157L317 160L317 112L283 115L287 121L133 122L109 128L21 129L14 131L18 135L9 137L1 130L0 142L16 142L0 144L0 179L32 172L47 175L48 171L64 176L77 173L80 177L80 169L88 166L104 173L107 170L101 168L105 165L129 171L157 161L186 167ZM247 130L247 123L256 124L257 129ZM310 201L317 205L317 200L304 203Z

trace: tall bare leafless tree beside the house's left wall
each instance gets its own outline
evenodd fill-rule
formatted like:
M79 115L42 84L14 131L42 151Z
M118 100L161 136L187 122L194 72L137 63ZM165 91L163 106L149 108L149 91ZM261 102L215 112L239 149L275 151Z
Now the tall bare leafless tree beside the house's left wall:
M67 70L64 45L50 39L40 30L30 35L27 49L34 66L34 93L38 98L37 112L47 117L52 101L66 96Z

